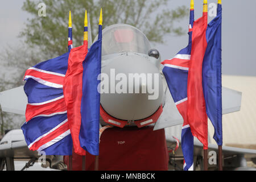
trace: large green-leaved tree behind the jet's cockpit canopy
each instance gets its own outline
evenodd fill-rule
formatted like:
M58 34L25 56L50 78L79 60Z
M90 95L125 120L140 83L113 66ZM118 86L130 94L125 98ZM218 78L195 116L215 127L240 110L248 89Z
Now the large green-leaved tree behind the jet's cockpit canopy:
M46 5L46 16L38 16L39 3ZM22 9L32 14L20 37L31 47L38 46L49 57L67 52L67 25L72 11L73 44L82 44L84 12L87 9L92 25L92 37L97 35L98 16L103 9L104 27L115 23L131 24L142 30L151 42L163 43L164 35L181 35L174 22L188 15L185 6L168 8L168 0L40 0L24 2Z

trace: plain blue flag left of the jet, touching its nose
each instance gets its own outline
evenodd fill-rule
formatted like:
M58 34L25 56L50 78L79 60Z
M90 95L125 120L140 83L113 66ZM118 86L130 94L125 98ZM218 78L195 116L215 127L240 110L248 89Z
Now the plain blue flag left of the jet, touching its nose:
M81 126L79 140L81 147L92 155L99 154L100 131L100 84L102 26L99 25L98 40L88 50L83 62Z

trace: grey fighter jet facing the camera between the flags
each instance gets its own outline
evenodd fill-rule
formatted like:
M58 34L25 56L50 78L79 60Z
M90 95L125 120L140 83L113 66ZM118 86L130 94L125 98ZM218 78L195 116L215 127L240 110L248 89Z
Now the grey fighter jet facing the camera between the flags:
M163 66L158 50L151 47L147 37L138 28L128 24L114 24L102 31L102 73L98 77L101 93L100 123L102 126L154 126L154 130L166 129L169 147L177 143L170 129L183 124L183 118L172 100L167 82L162 73ZM97 37L96 39L97 40ZM222 88L222 113L239 111L242 93ZM23 86L0 93L3 111L25 114L27 96ZM176 136L180 140L180 136ZM23 139L24 140L24 139ZM28 148L23 141L24 155L28 157ZM26 150L27 151L26 151ZM217 151L217 145L209 145ZM12 151L7 152L7 151ZM11 154L15 158L16 147L0 144L0 158ZM202 156L203 146L195 142L195 155ZM177 151L182 156L181 150ZM223 147L224 156L256 158L256 150ZM9 156L8 156L9 157ZM200 158L199 162L200 162ZM238 158L241 162L244 158ZM11 165L11 164L9 164ZM241 167L238 164L236 167Z

